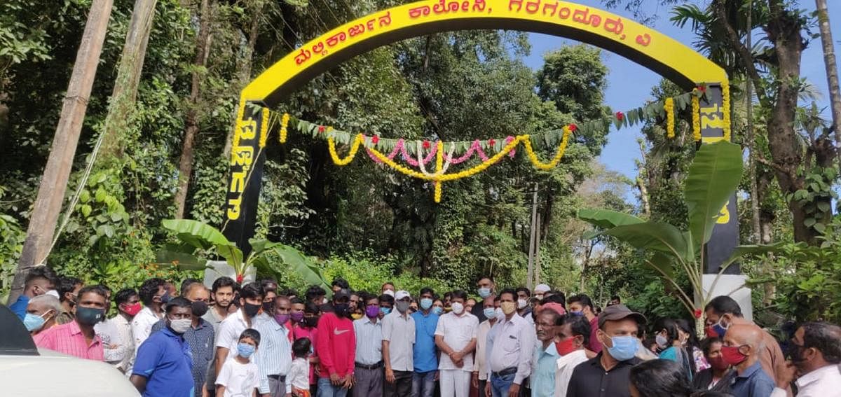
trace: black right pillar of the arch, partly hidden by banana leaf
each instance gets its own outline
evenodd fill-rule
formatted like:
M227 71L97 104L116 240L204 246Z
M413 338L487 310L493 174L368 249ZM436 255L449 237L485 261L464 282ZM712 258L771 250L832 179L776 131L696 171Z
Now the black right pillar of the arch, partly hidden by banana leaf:
M724 140L724 109L720 85L706 87L706 100L701 99L701 144ZM712 229L710 241L704 252L704 273L717 274L722 263L738 246L738 212L736 193L722 208L717 225ZM740 274L738 263L727 267L725 274Z

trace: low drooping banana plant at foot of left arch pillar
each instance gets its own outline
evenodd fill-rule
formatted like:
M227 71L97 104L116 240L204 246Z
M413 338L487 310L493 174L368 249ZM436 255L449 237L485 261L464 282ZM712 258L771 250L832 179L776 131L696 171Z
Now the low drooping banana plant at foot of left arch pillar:
M164 220L163 227L172 230L178 239L177 244L168 244L157 252L160 264L176 266L185 270L204 270L208 268L209 257L222 257L233 267L236 282L242 283L246 272L257 267L263 273L299 273L309 284L327 287L317 263L294 247L265 239L251 239L251 253L243 257L236 244L225 238L220 230L198 220ZM272 261L278 257L280 262ZM329 288L328 288L329 289Z

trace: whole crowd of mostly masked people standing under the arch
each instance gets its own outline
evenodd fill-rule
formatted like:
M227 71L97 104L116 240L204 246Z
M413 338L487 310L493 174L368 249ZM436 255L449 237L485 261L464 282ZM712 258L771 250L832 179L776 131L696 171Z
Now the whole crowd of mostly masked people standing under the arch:
M272 279L150 278L112 294L36 267L9 309L38 347L108 363L150 397L841 396L835 325L802 324L781 345L719 296L699 341L690 321L649 322L619 297L602 310L545 284L476 288L336 278L328 300Z

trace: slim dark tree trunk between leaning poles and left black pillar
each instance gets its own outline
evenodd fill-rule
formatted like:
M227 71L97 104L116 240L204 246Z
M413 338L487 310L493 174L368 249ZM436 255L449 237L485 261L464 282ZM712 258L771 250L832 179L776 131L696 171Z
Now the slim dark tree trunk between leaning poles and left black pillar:
M211 22L213 21L213 5L210 4L210 0L202 0L199 13L196 59L193 62L193 85L190 89L187 110L187 128L184 130L181 158L178 161L178 191L175 194L175 218L178 220L184 217L184 209L187 207L187 192L190 186L190 177L193 175L195 139L198 133L198 101L201 96L201 85L204 82L210 52L210 42L213 37L210 34Z

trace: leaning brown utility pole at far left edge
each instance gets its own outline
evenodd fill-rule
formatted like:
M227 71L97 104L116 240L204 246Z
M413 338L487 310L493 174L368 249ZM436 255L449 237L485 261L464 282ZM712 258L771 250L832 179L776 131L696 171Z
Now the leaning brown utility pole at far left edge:
M50 157L47 159L32 217L29 219L26 241L14 274L9 302L18 299L24 289L24 280L29 268L45 261L47 249L52 242L113 5L114 0L93 0L87 13L85 31L61 106L61 118L56 126Z

